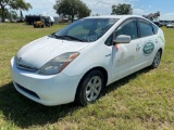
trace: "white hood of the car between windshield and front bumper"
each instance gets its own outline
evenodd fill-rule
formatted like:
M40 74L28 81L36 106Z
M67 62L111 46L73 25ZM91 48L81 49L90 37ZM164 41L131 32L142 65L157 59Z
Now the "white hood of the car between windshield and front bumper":
M88 44L44 37L23 47L16 54L16 62L25 67L40 68L57 56L66 52L78 52Z

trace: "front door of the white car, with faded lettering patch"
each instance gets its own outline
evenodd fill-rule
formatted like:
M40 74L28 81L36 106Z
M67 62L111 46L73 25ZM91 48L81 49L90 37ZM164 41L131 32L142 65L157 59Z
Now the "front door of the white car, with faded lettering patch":
M130 36L129 43L119 43L112 49L112 81L119 80L134 72L140 58L140 39L138 39L137 21L130 18L115 29L115 37Z

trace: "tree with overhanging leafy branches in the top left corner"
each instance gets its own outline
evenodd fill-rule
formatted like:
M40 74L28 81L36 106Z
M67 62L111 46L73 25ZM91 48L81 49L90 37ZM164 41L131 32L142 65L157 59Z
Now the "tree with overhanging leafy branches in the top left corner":
M32 9L30 3L25 2L24 0L0 0L0 10L1 10L1 16L2 16L2 22L4 22L4 16L5 16L5 10L7 6L13 10L24 10L28 11L28 9Z

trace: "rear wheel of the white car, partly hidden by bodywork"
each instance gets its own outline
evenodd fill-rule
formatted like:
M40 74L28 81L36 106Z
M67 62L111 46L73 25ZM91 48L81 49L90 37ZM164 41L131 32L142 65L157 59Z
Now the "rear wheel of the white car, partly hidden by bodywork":
M161 61L161 51L159 50L157 53L156 53L156 56L154 56L154 60L151 64L151 67L154 69L154 68L158 68L159 65L160 65L160 61Z

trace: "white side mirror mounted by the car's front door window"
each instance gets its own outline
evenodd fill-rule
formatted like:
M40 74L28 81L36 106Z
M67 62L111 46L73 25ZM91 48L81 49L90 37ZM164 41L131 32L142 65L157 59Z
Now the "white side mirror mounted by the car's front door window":
M114 40L114 44L116 44L116 43L129 43L130 40L132 40L130 36L120 35Z

